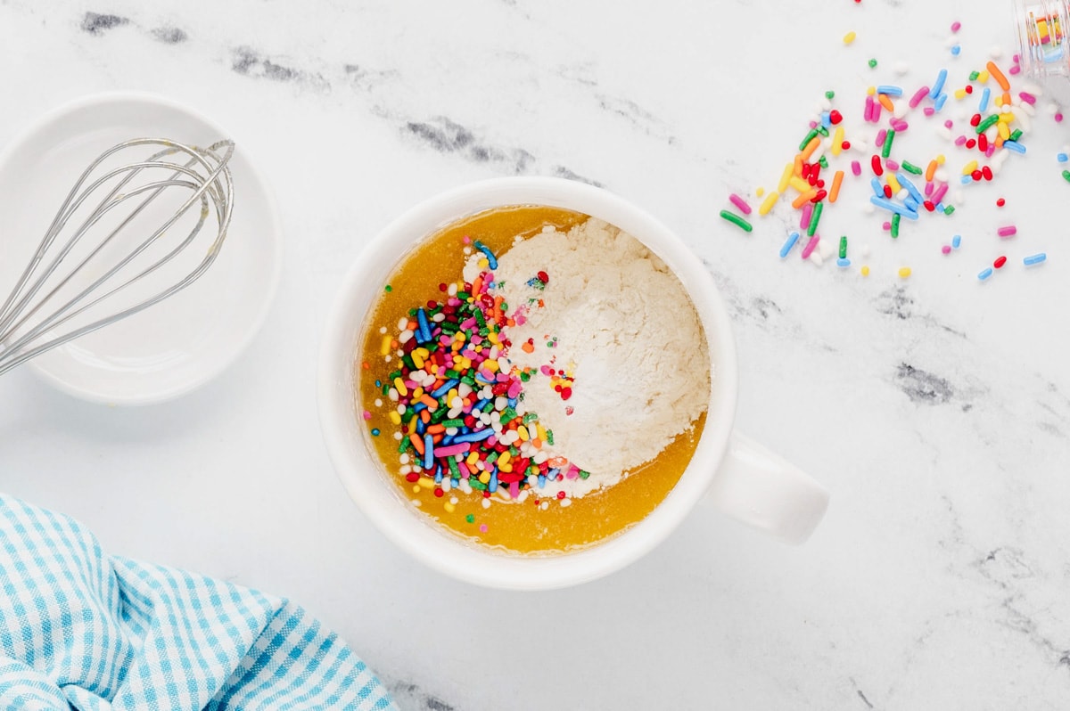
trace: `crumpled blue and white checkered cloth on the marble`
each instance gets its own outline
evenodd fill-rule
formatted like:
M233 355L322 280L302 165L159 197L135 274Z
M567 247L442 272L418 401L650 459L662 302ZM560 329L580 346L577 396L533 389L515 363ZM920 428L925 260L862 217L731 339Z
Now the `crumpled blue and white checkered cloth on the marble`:
M67 516L0 495L0 709L395 709L287 600L106 556Z

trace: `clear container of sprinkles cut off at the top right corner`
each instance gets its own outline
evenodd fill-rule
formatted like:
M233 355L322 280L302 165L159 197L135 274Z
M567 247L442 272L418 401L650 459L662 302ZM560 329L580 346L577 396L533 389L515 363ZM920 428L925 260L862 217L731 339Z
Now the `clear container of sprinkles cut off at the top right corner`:
M1070 0L1014 0L1014 13L1022 74L1070 105Z

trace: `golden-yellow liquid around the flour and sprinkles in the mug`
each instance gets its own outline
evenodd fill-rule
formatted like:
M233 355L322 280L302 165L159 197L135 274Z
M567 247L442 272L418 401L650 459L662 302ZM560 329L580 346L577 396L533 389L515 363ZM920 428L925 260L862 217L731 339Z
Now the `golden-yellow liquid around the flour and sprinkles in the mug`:
M394 438L398 428L388 419L395 403L383 397L376 385L377 381L386 382L399 364L396 357L387 362L381 355L381 328L396 337L398 322L408 318L411 308L444 298L440 284L461 280L467 257L464 248L472 241L478 239L495 254L502 254L518 235L530 237L545 226L567 232L586 219L586 215L570 211L517 205L483 212L446 226L423 241L395 267L361 336L362 355L355 364L357 412L371 414L365 421L365 434L401 496L414 501L414 506L418 501L419 511L450 531L505 552L577 551L641 521L664 499L684 474L702 434L705 414L656 459L630 472L613 486L571 499L567 507L553 498L541 499L549 500L549 508L542 510L533 496L538 489L532 490L522 503L503 503L494 498L486 509L479 491L465 494L454 490L439 497L433 488L410 483L399 474L399 443ZM470 243L465 243L465 236ZM379 406L374 404L377 400L381 401ZM372 430L378 430L379 434L372 435ZM622 418L621 436L642 436L642 428L631 427ZM456 505L450 503L453 497L457 498Z

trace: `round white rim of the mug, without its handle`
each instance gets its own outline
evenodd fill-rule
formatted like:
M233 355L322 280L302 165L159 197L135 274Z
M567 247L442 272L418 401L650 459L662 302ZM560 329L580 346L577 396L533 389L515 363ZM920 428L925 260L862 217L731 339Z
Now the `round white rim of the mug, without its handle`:
M413 511L387 480L360 431L353 366L378 287L401 256L438 229L484 210L538 204L603 219L639 239L670 267L694 304L714 375L706 422L690 462L666 498L641 521L575 552L507 554L464 541ZM724 457L738 386L735 340L723 298L697 254L651 214L606 190L560 177L496 177L440 192L407 210L366 246L347 271L328 312L318 369L320 426L335 472L350 497L396 545L452 577L491 588L536 590L608 575L661 543L709 488ZM403 513L399 508L407 509Z

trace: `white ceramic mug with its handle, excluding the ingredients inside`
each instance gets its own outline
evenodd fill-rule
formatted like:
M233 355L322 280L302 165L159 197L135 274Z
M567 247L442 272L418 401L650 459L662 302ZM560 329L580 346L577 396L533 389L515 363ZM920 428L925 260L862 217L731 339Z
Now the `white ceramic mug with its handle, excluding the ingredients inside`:
M646 517L584 550L509 555L470 543L421 513L387 480L358 416L354 364L365 316L401 256L440 228L503 205L572 210L618 227L676 274L702 320L714 364L706 423L676 486ZM704 497L728 514L789 542L805 541L828 506L806 474L735 432L738 372L732 323L709 273L664 225L601 188L547 177L504 177L434 197L388 225L350 268L327 318L319 364L320 422L339 477L361 510L391 540L433 569L505 589L549 589L618 570L654 548Z

